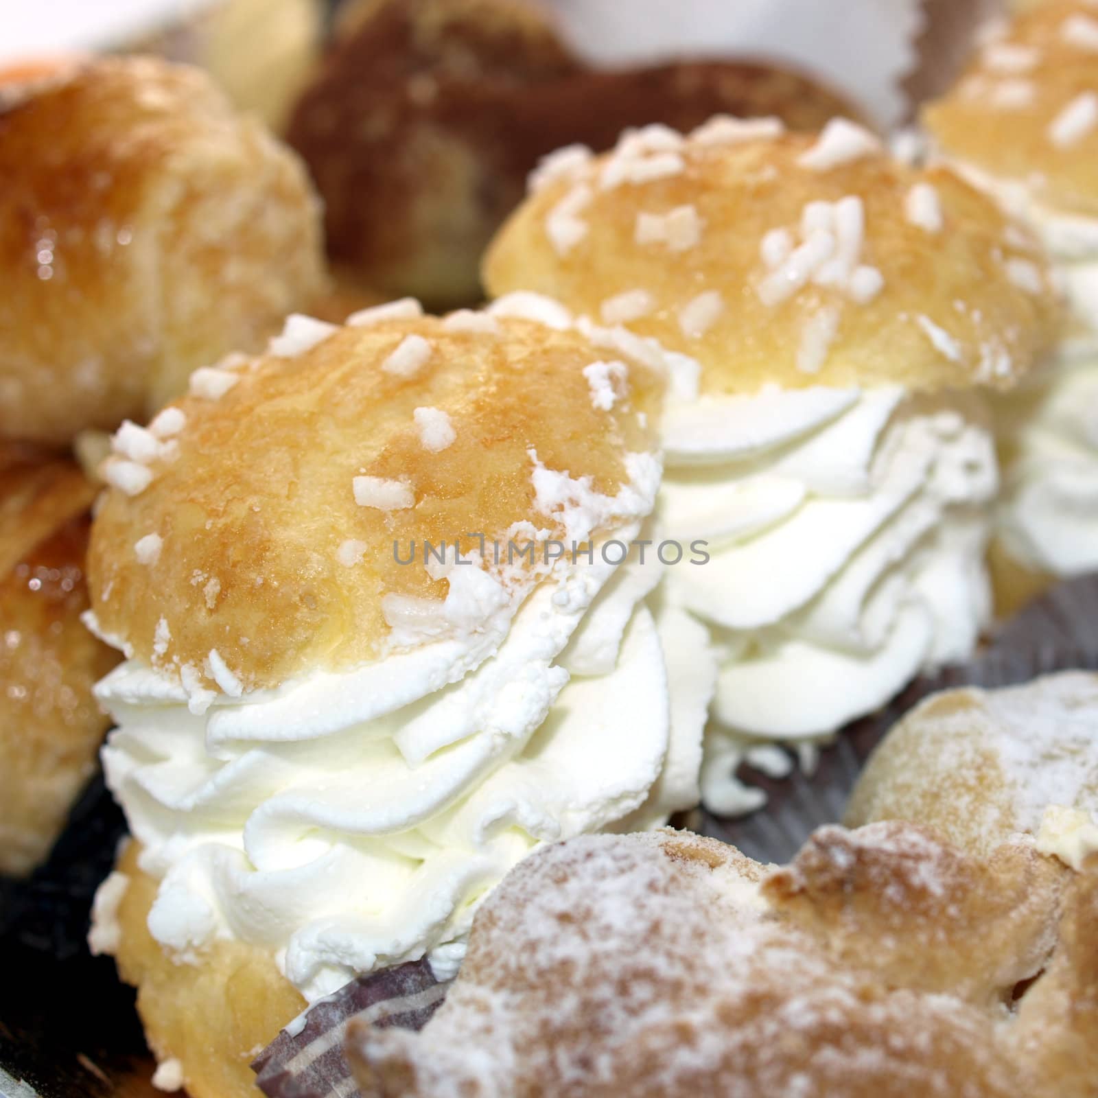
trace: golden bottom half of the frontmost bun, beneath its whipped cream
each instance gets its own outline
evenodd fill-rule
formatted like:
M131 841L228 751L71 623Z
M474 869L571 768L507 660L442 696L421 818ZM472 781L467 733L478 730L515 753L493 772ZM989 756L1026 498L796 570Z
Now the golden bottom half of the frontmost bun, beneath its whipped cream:
M148 931L157 882L137 866L131 842L117 870L128 878L117 909L119 974L137 988L137 1012L158 1061L178 1060L191 1098L254 1098L249 1066L305 1000L271 954L217 941L198 963L170 959Z

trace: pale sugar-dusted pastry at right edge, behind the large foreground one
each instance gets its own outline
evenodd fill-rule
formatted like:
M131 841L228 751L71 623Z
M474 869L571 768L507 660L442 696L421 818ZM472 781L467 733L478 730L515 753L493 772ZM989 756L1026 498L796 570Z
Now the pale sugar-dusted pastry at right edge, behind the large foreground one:
M1098 675L928 698L870 758L847 807L853 827L884 819L925 824L977 854L1018 833L1069 862L1082 855L1064 842L1098 850Z

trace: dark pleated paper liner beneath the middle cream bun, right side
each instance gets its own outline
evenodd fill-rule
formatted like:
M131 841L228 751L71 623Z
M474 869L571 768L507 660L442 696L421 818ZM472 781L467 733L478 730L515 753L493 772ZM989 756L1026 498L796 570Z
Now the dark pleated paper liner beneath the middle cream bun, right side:
M820 751L813 774L794 766L787 778L773 780L741 765L737 776L762 788L766 805L737 819L703 809L692 821L694 829L758 861L787 862L816 828L841 819L866 758L928 694L957 686L1012 686L1068 670L1098 671L1098 574L1054 587L997 629L972 662L917 679L889 705L849 725Z

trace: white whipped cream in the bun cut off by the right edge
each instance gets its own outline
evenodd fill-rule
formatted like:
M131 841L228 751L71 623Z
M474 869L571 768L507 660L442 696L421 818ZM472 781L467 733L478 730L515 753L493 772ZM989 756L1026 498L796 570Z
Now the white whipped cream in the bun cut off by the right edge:
M1075 317L1055 370L999 397L996 413L1010 456L1004 542L1035 571L1078 575L1098 568L1098 219L1053 210L1024 181L963 170L1042 238Z

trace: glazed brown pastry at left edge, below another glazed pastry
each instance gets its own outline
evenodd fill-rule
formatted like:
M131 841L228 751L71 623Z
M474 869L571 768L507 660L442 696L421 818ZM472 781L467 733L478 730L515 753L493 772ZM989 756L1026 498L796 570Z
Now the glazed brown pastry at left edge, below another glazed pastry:
M49 852L108 720L92 684L117 657L88 634L94 488L69 461L0 442L0 873Z

